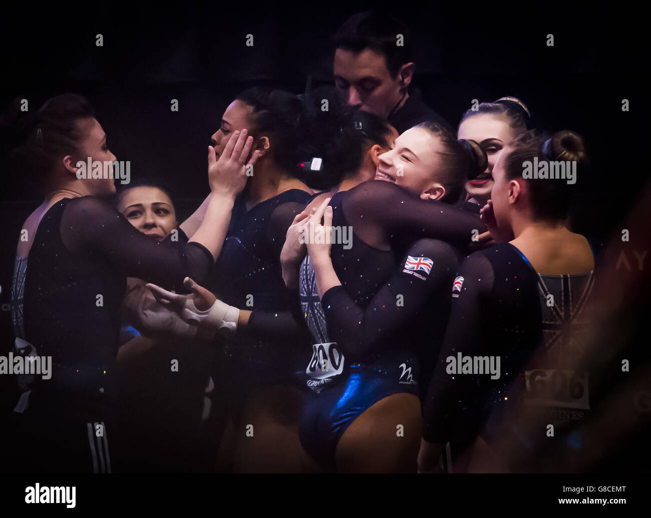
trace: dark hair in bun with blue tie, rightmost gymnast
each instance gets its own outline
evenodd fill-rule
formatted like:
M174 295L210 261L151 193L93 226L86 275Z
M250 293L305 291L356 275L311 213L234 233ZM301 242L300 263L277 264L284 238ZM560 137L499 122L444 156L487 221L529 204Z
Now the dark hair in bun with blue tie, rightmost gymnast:
M512 144L513 150L505 157L505 171L508 180L523 178L526 161L538 163L547 161L575 161L577 174L586 172L589 159L585 141L574 131L564 129L549 136L541 131L527 131ZM531 209L535 219L563 221L570 211L571 186L562 179L526 179Z

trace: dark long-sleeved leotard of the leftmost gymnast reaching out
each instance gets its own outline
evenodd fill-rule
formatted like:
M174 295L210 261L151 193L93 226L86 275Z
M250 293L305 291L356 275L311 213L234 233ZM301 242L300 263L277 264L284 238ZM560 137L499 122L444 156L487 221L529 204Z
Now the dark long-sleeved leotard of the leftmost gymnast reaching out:
M89 470L90 461L83 459L90 458L91 446L96 454L102 444L90 444L86 424L94 428L109 419L126 277L178 290L187 276L205 279L214 260L199 243L148 238L95 197L57 202L32 239L29 257L18 258L14 274L17 348L21 355L51 357L52 363L50 379L21 375L18 380L20 433L40 434L52 455L62 437L76 434L67 463L53 459L44 461L47 466L38 463L38 469ZM39 431L46 421L50 426ZM99 460L105 469L107 459ZM101 467L99 460L94 457L94 465Z

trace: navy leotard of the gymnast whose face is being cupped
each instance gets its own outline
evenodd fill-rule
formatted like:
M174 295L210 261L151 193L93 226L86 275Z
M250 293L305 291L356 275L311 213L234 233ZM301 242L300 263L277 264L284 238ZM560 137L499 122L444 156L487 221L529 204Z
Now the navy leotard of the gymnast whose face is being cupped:
M208 287L225 303L251 310L246 329L224 338L215 358L216 392L236 412L251 389L293 383L298 353L309 333L290 310L280 265L287 228L312 197L290 189L247 210L240 195ZM300 324L300 325L299 325Z

